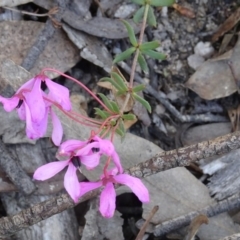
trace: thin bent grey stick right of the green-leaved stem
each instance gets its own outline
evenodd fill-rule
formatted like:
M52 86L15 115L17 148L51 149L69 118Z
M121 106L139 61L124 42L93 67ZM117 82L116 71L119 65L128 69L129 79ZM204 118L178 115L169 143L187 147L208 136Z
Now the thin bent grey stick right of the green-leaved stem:
M131 73L130 67L125 62L120 62L118 65L126 71L128 74ZM135 73L135 80L139 83L146 84L143 79ZM214 114L196 114L196 115L182 115L165 97L165 94L156 91L150 85L147 85L145 92L150 93L154 96L175 118L177 118L180 122L195 122L195 123L202 123L202 122L226 122L228 119L223 116L214 115Z

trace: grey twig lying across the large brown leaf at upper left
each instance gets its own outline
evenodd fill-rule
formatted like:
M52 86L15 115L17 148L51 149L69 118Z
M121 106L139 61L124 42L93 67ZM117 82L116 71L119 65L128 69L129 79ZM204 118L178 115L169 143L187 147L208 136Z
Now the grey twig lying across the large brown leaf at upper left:
M55 33L56 28L53 26L53 22L60 21L63 15L63 12L66 8L68 0L55 0L55 2L59 5L59 11L55 15L55 18L49 18L43 28L43 30L39 33L36 41L33 46L29 49L27 55L25 56L21 66L26 70L31 70L38 59L39 55L45 49L48 41L52 38Z

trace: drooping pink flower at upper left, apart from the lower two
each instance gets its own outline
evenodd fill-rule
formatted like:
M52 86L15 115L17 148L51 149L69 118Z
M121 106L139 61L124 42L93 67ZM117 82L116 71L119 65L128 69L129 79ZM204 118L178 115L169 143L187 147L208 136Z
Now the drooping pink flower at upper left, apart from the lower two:
M46 83L48 94L42 91L42 82ZM23 84L12 98L0 96L0 102L7 112L17 108L19 118L26 121L26 134L30 139L44 136L50 114L53 123L52 140L56 145L60 144L63 130L51 105L57 103L64 110L71 110L67 88L52 82L46 76L39 75Z

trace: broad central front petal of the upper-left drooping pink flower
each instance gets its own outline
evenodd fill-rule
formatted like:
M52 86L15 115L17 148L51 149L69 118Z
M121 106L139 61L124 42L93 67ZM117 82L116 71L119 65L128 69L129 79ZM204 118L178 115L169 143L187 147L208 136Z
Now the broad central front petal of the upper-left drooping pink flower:
M45 102L42 96L41 81L35 81L32 91L23 93L33 122L41 122L45 116Z

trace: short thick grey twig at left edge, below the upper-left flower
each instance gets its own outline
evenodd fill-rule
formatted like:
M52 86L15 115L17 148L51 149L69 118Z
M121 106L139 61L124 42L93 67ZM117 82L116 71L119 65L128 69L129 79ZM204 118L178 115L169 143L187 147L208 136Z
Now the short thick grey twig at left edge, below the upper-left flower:
M8 175L10 180L25 194L31 194L35 190L35 185L31 178L22 170L16 158L9 152L3 141L0 139L0 166Z

